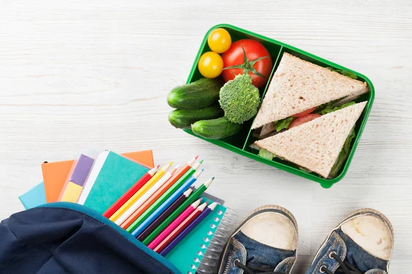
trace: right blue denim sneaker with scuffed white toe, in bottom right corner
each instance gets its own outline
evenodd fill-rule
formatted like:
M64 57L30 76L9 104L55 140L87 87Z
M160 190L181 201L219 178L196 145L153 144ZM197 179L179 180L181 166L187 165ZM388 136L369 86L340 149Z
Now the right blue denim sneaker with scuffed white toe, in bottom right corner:
M332 230L306 274L385 274L392 249L387 217L369 208L358 210Z

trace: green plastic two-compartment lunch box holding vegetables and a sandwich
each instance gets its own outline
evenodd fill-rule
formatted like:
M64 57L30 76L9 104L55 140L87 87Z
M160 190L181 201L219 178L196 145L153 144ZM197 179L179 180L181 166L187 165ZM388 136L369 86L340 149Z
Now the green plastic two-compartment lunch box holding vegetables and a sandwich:
M226 29L229 34L231 35L232 42L244 38L249 38L253 40L258 40L259 42L262 42L264 47L268 49L269 53L271 53L271 57L273 60L273 69L271 72L271 77L268 80L268 83L266 84L266 87L260 89L260 95L261 95L261 100L263 100L264 95L266 93L266 89L268 88L273 73L276 71L277 66L280 62L280 59L282 58L282 55L284 52L290 53L292 55L295 55L303 60L307 60L309 62L312 62L314 64L317 64L319 66L330 66L334 69L341 69L343 71L351 71L354 73L357 77L358 80L362 82L367 83L367 87L369 88L369 92L367 94L362 95L359 100L356 101L365 101L367 100L367 105L365 107L365 110L363 111L363 114L361 117L358 119L356 122L355 126L355 131L356 131L356 138L352 142L352 149L350 151L349 156L347 157L347 160L343 167L341 168L341 171L339 175L334 177L333 179L325 179L323 177L320 177L319 175L316 175L314 173L306 173L304 171L301 171L298 168L295 168L294 166L289 166L287 162L284 162L282 160L279 160L279 158L274 158L273 160L268 160L265 158L262 158L258 155L258 151L253 150L250 148L250 145L255 141L255 138L253 138L253 134L251 133L251 125L253 123L253 119L251 121L248 121L247 123L244 123L244 127L241 132L238 134L231 136L229 138L225 139L220 139L220 140L212 140L212 139L207 139L203 138L201 136L198 136L192 132L190 129L185 129L185 132L188 134L192 134L198 138L202 138L203 140L206 140L207 142L211 142L212 144L218 145L220 147L224 147L225 149L229 149L230 151L236 152L240 155L244 155L247 158L262 162L264 164L268 164L269 166L275 166L277 169L282 169L284 171L288 171L290 173L293 173L295 175L299 175L301 177L304 177L306 179L310 179L314 182L318 182L321 184L323 188L330 188L333 184L336 182L339 182L345 174L347 173L347 169L349 169L350 162L352 161L352 158L354 156L356 147L358 145L359 139L361 138L363 129L365 127L367 117L369 116L369 112L371 111L372 108L372 103L374 103L374 98L375 98L375 90L374 86L372 85L371 81L365 77L365 75L362 75L361 73L357 73L356 71L352 71L350 69L347 69L343 66L339 66L339 64L334 64L333 62L330 62L328 60L325 60L323 58L320 58L316 55L313 55L311 53L308 53L306 51L302 51L301 49L297 49L295 47L292 47L290 45L286 45L283 42L279 42L277 40L273 40L271 38L267 38L265 36L262 36L260 34L254 34L253 32L249 32L245 29L240 29L239 27L235 27L233 25L228 25L228 24L220 24L212 27L209 29L209 32L206 33L205 38L203 38L202 45L196 55L196 59L194 60L192 70L190 71L189 77L187 77L187 82L186 84L189 84L191 82L196 81L197 79L200 79L202 77L201 73L198 71L198 60L201 57L201 55L207 51L210 51L209 46L207 45L207 36L209 36L209 33L213 30L216 29L216 27L222 27Z

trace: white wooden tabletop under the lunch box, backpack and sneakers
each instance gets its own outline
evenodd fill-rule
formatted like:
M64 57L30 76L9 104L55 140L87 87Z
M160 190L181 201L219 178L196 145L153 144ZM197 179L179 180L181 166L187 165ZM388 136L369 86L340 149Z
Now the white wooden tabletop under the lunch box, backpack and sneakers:
M143 3L144 2L144 3ZM199 2L199 3L195 3ZM165 96L183 84L211 26L231 23L367 75L376 88L352 166L331 189L174 129ZM239 219L273 203L299 223L304 273L330 229L362 207L396 232L391 273L412 263L411 1L1 1L0 219L41 182L41 162L84 147L199 153L210 192Z

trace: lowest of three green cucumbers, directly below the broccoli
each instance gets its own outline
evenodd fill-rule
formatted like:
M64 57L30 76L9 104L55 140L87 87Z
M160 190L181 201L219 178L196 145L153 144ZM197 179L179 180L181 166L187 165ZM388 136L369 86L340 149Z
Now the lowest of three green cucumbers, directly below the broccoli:
M192 132L208 139L222 139L237 134L242 125L231 123L225 117L213 120L197 121L192 125Z

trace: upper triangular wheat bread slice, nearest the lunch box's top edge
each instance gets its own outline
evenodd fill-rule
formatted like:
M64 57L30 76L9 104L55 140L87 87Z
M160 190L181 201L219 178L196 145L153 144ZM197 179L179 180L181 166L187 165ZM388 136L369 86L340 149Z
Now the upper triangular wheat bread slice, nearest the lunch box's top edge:
M284 53L252 129L367 91L366 83Z

